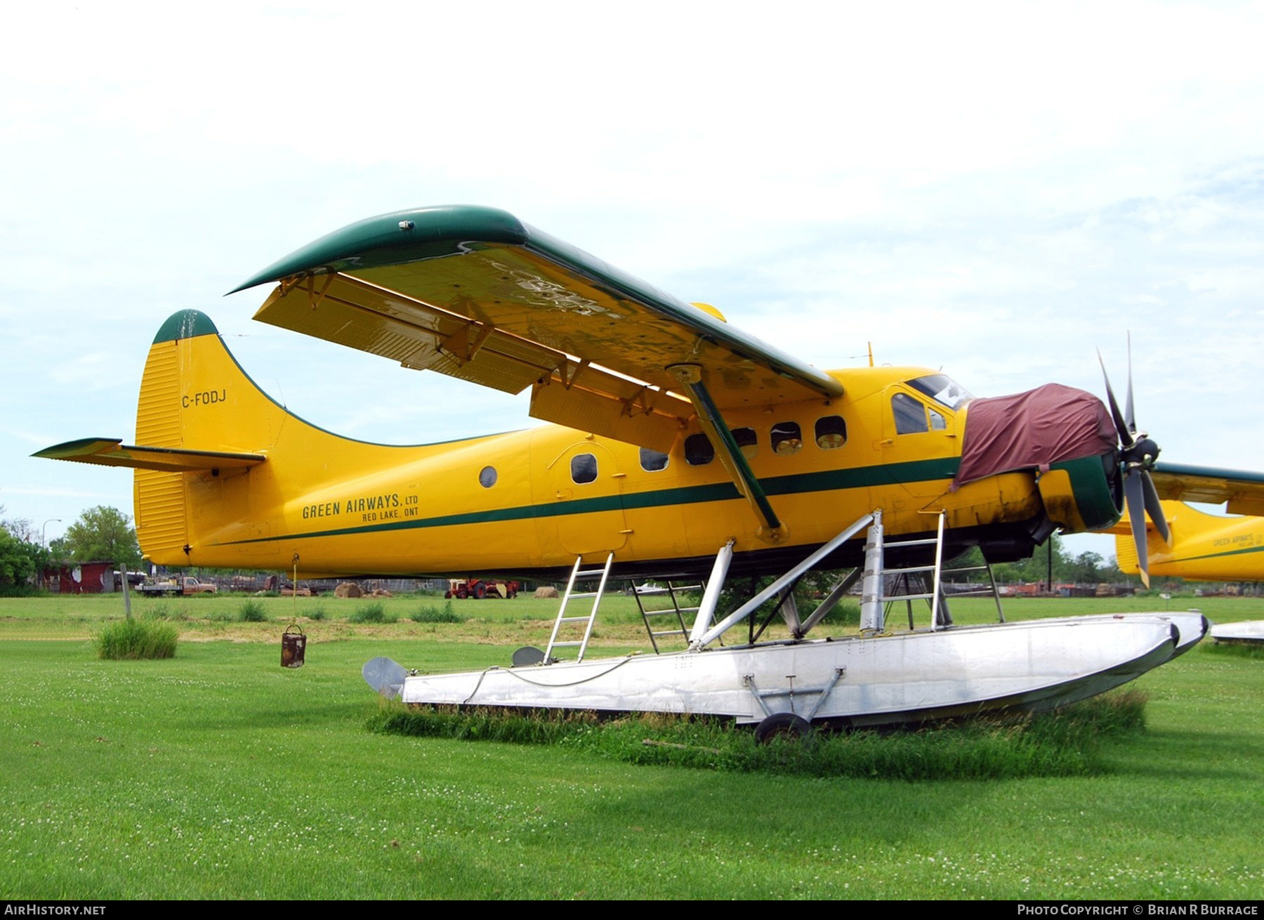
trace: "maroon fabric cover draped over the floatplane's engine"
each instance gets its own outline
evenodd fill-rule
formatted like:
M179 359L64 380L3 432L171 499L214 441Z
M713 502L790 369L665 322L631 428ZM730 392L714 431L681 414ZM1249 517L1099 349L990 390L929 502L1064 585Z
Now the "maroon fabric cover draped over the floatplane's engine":
M983 476L1114 450L1115 423L1092 393L1047 383L1026 393L973 399L953 488Z

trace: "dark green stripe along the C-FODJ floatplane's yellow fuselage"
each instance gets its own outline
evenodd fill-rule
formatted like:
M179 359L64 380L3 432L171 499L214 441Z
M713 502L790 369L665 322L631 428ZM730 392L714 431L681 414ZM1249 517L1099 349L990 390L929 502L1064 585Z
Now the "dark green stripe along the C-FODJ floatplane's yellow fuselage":
M787 476L770 476L761 480L770 495L793 495L804 492L837 492L839 489L862 489L870 485L894 485L896 483L933 481L952 479L957 474L959 457L942 460L914 460L902 464L877 464L844 470L824 470L820 473L799 473ZM603 511L632 511L636 508L657 508L672 504L698 504L700 502L728 502L741 498L733 483L710 483L707 485L683 485L675 489L655 492L631 492L599 498L581 498L551 504L526 504L516 508L489 508L487 511L464 512L460 514L441 514L431 518L411 521L391 521L363 527L339 527L311 533L284 533L276 537L254 537L252 540L230 540L214 546L239 546L241 543L268 543L276 540L308 540L312 537L343 537L353 533L374 533L388 531L407 531L423 527L451 527L456 524L482 524L498 521L521 521L523 518L564 517L568 514L593 514Z

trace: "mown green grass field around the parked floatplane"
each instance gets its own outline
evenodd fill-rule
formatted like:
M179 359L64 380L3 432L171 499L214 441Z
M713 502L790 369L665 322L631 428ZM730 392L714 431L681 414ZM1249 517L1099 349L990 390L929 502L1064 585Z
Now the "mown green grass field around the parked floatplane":
M555 602L241 598L135 605L176 657L100 661L114 598L0 600L0 897L1258 899L1264 657L1205 643L1136 682L1149 728L1076 777L801 778L635 766L574 746L374 734L369 657L479 667ZM603 651L640 646L631 599ZM1160 602L1162 603L1162 602ZM1173 600L1264 619L1258 599ZM307 665L279 667L303 619ZM1139 609L1015 600L1011 618ZM958 620L991 617L959 603Z

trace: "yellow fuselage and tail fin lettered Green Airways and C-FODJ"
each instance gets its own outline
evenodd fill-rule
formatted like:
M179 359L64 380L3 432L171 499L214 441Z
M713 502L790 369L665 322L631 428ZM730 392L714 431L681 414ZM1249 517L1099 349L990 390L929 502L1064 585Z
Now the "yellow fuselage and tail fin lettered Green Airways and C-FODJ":
M927 373L836 372L839 399L727 415L734 432L753 432L744 452L785 523L772 543L718 459L686 459L693 427L661 469L646 468L661 455L642 463L633 445L552 425L423 446L365 444L276 404L217 335L157 341L138 442L268 459L249 469L138 470L138 533L147 556L164 565L291 569L297 557L300 572L380 575L561 570L576 555L608 552L624 570L684 571L732 538L738 569L753 571L801 556L876 508L894 533L930 531L942 509L963 533L1040 516L1030 473L949 490L964 412L902 383ZM933 406L944 427L897 435L897 392ZM834 418L846 436L818 437L818 422ZM793 426L798 439L786 437Z

